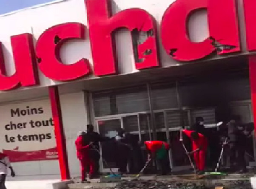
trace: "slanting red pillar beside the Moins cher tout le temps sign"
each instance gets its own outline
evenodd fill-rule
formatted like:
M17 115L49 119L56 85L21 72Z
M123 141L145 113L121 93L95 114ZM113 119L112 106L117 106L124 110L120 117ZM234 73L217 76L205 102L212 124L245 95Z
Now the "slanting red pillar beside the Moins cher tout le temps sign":
M51 113L54 120L54 131L56 136L57 150L59 153L60 174L62 180L70 179L68 168L68 155L65 142L65 134L60 108L60 96L57 86L49 87L49 98L51 101Z

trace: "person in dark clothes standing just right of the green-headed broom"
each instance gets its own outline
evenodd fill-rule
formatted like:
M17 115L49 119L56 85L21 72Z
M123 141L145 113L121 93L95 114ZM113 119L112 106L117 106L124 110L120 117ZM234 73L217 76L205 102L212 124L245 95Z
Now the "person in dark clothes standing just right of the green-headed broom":
M230 170L246 172L245 147L246 136L240 124L240 116L231 116L228 122L228 137L230 147ZM238 166L238 167L236 167Z

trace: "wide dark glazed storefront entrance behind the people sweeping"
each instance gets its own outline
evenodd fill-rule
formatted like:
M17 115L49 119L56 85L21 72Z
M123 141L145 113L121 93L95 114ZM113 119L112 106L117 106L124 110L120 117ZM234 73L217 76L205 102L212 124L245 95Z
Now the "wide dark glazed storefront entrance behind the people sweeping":
M253 116L247 72L239 70L222 75L210 74L176 82L166 79L92 92L93 121L98 132L113 138L117 135L116 130L123 128L126 133L133 134L137 141L166 141L171 145L169 165L172 171L184 171L191 166L179 141L179 130L191 128L196 117L203 117L211 143L207 166L212 169L219 158L221 137L228 135L229 118L238 115L241 118L242 135L247 136L246 141L242 142L248 147L245 153L246 165L248 169L252 169L256 152L255 141L253 143L251 136ZM219 122L224 122L222 127L217 124ZM189 145L191 141L188 141L188 148ZM101 149L108 166L117 168L117 150L107 143L102 143ZM229 151L226 150L222 168L229 167L228 158ZM109 172L108 166L101 161L103 171Z

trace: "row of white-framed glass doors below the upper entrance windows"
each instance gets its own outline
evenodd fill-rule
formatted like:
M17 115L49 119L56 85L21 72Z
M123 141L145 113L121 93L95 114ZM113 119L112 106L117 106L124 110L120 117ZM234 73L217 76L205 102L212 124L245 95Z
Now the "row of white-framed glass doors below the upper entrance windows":
M188 113L188 111L184 112ZM166 141L172 146L172 149L169 151L170 167L173 171L189 169L189 160L182 150L182 145L178 139L181 127L175 125L175 122L180 120L179 111L164 110L154 113L154 116L158 123L158 128L156 129L156 140ZM108 138L114 138L117 135L117 129L122 128L125 132L134 135L137 141L148 141L153 139L154 129L151 125L150 113L144 112L136 114L122 114L118 116L104 116L96 118L96 122L97 130L100 135ZM172 127L170 127L171 123ZM101 144L101 153L104 160L101 159L100 166L103 172L109 172L109 167L117 171L115 156L118 154L113 148L113 145L112 141L107 141ZM105 161L108 163L106 164Z

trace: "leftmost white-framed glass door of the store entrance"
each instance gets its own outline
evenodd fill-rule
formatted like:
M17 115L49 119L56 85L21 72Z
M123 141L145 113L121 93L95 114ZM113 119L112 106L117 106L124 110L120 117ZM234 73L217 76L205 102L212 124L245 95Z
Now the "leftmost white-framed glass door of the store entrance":
M122 128L122 118L106 118L97 120L98 132L100 135L114 138L117 135L117 129ZM100 166L102 172L110 172L110 169L117 171L116 157L117 150L115 150L114 140L105 141L100 144L101 159ZM104 158L104 160L102 159Z

